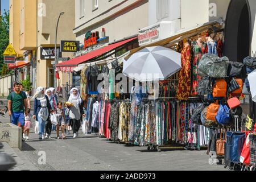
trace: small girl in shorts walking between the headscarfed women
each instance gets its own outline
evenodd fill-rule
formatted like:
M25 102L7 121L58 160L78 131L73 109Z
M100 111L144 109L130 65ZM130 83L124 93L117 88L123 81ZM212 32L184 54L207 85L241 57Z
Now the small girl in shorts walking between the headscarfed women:
M66 139L66 137L64 135L64 129L65 129L66 123L65 123L64 111L62 109L62 102L58 102L58 104L57 104L56 116L57 116L57 121L58 121L58 125L57 125L57 139L60 138L60 135L59 135L60 127L61 127L62 139Z

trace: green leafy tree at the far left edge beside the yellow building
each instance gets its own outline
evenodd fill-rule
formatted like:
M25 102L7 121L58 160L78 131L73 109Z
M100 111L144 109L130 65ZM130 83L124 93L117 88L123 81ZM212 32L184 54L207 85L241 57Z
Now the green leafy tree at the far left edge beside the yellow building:
M0 21L0 73L6 74L6 71L2 72L3 67L3 52L5 52L6 47L9 45L9 11L3 13ZM5 65L5 68L7 66Z

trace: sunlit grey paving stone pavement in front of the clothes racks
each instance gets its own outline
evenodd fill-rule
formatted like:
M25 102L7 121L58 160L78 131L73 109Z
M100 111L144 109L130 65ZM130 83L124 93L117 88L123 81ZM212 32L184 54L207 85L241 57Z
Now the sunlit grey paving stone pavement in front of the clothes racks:
M10 122L10 118L0 118L1 122ZM13 149L19 163L13 170L75 170L75 171L158 171L158 170L208 170L222 171L222 165L210 165L206 151L148 151L147 147L133 147L112 143L96 135L84 135L80 130L79 138L52 138L39 140L32 133L30 139L23 142L22 151ZM40 164L40 152L46 154L46 164ZM9 151L10 152L10 151Z

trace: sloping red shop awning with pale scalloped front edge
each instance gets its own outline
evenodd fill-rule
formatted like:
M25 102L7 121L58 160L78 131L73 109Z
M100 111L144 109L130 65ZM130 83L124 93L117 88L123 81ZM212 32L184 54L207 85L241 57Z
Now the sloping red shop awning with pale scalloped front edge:
M65 61L63 63L60 63L60 64L57 64L56 65L56 68L58 71L62 71L62 72L72 72L73 71L73 68L77 67L77 65L81 64L81 63L84 63L85 61L88 61L88 60L91 60L93 59L94 57L97 57L97 56L100 56L104 53L108 53L108 52L111 52L113 51L115 48L118 48L118 47L121 47L123 46L124 44L126 43L129 43L131 42L132 40L135 40L137 39L138 36L134 37L134 38L130 38L130 39L127 39L127 40L123 40L121 42L117 42L117 43L114 43L114 44L110 44L109 46L106 46L106 47L103 47L103 48L100 48L96 51L92 51L92 52L89 52L89 53L86 53L85 55L82 55L80 57L76 57L74 59L71 59L69 61Z

